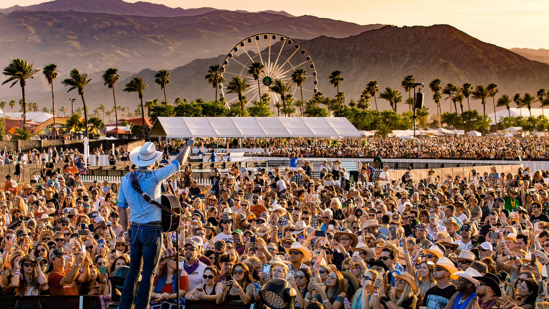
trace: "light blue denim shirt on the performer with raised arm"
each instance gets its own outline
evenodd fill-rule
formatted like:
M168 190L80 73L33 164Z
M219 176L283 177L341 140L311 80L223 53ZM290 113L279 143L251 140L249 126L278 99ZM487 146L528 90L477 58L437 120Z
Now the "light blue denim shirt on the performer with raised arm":
M160 184L175 174L179 168L180 164L177 160L173 160L163 168L154 170L148 167L139 167L139 169L144 169L146 172L138 172L137 181L143 192L147 192L153 200L160 202ZM132 223L148 223L162 220L161 209L156 205L145 202L143 197L137 191L133 190L130 183L130 173L124 175L120 181L117 206L122 208L130 207L130 218L128 219Z

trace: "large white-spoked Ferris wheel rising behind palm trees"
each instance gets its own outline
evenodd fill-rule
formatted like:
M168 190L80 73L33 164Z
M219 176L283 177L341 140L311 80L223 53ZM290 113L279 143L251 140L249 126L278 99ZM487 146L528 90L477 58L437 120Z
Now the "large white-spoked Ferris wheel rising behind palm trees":
M250 66L255 62L263 66L258 80L248 74ZM292 74L298 69L302 69L298 72L302 79L305 78L300 86L292 79ZM227 89L229 82L237 76L249 84L243 93L249 103L259 101L260 93L268 93L271 105L279 102L279 95L271 90L276 80L291 86L290 93L295 100L301 100L302 96L306 102L317 92L317 73L311 56L295 40L279 34L256 34L240 41L227 54L221 71L225 82L219 85L220 95L225 96L227 105L238 101L236 93L228 93Z

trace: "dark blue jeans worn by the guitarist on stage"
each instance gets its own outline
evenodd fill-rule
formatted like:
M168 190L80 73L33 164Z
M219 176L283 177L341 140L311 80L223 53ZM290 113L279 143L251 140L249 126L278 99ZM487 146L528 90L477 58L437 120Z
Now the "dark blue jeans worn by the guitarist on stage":
M158 266L163 242L162 233L161 226L132 224L130 228L130 271L128 271L120 296L120 309L130 309L134 301L136 309L149 308L151 284L156 266ZM143 272L141 273L142 267ZM141 283L134 297L139 273L141 273Z

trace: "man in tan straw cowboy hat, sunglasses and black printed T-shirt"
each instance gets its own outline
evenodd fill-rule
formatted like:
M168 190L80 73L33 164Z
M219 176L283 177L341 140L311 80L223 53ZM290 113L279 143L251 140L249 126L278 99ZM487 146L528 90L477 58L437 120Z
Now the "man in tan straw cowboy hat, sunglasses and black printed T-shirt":
M447 257L439 258L436 263L428 261L427 264L434 266L433 278L436 280L436 285L425 292L421 306L427 306L430 309L444 309L450 300L447 297L457 291L450 279L460 278L453 274L458 269Z

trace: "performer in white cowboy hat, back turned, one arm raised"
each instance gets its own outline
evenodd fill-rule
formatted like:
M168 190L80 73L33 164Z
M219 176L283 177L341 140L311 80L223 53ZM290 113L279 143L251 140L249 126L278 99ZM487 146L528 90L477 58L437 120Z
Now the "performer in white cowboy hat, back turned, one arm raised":
M141 190L153 200L160 202L160 185L180 169L193 145L194 141L189 139L175 160L166 167L154 170L156 160L160 158L162 152L156 151L152 142L145 142L142 147L134 148L130 152L130 161L139 167L135 173ZM163 244L162 212L158 206L145 201L141 194L133 189L130 175L131 173L127 173L122 178L118 195L120 224L124 229L124 236L130 240L130 260L132 261L120 297L120 309L132 308L134 301L135 308L148 309L151 283ZM128 206L130 207L129 220L126 212ZM128 221L131 223L129 230ZM133 292L141 267L143 267L142 279L134 299Z

